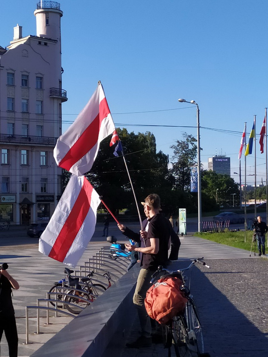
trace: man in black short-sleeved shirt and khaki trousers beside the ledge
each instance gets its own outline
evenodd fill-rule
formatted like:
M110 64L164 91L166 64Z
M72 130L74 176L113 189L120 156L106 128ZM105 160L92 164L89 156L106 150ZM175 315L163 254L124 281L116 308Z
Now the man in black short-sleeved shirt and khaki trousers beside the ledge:
M145 231L140 231L144 240L144 247L135 247L125 244L129 251L142 253L141 269L137 280L137 286L133 296L133 303L137 307L142 335L133 343L126 343L126 347L139 348L152 345L152 328L150 317L144 306L146 292L150 287L152 274L159 265L168 263L168 250L170 248L170 222L159 213L160 197L153 193L145 198L144 212L148 218Z

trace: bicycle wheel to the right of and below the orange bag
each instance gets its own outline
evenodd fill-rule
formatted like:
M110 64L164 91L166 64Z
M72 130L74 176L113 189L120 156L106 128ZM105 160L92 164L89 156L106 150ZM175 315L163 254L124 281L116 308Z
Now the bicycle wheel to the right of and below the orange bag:
M202 327L200 325L197 306L195 305L195 302L192 298L190 298L189 300L188 314L189 314L188 317L189 328L190 330L194 331L194 335L195 335L194 340L197 345L197 351L199 355L200 353L204 353L204 338L203 338Z

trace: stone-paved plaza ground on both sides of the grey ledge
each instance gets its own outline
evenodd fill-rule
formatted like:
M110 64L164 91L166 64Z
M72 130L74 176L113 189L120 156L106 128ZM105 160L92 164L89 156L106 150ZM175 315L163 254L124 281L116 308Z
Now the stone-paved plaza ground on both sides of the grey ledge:
M101 226L99 226L80 260L81 263L98 251L100 246L109 245L103 241L101 234ZM110 234L119 236L115 227L111 227ZM22 344L25 342L25 306L36 305L36 298L45 298L46 291L54 281L63 277L64 270L63 264L38 252L37 238L28 239L24 238L24 235L18 233L15 236L13 233L9 238L0 236L0 263L7 262L9 272L20 283L20 289L14 291L13 303L19 332L19 356L28 357L68 323L68 318L60 318L56 325L51 325L53 331L50 330L50 326L42 325L41 331L52 331L43 335L33 335L36 330L36 319L30 320L30 341L36 343ZM188 263L185 260L197 256L204 256L210 265L209 270L201 265L194 267L190 287L199 307L206 351L212 357L268 356L266 293L268 261L258 256L250 258L247 251L203 238L187 235L180 239L182 242L180 259L172 263L172 268L183 267ZM121 242L124 242L123 238ZM116 347L114 345L108 348L105 355L109 357L167 356L167 350L164 350L162 345L154 344L152 348L140 350L123 347L126 339L136 336L138 336L137 322L133 326L133 331L125 331L125 336L120 338L120 343L115 344ZM4 337L1 341L1 356L8 356Z

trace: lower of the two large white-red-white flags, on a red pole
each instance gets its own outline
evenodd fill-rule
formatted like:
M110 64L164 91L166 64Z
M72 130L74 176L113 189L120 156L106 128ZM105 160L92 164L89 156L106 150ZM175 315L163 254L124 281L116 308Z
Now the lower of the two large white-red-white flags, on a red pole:
M75 267L95 231L99 204L87 178L72 175L40 237L39 252Z

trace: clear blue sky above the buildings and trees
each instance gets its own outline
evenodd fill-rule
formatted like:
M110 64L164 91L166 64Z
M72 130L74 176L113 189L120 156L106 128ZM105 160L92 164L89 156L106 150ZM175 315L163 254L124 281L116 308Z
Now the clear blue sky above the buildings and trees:
M23 36L36 34L36 1L2 2L2 47L13 39L17 23L23 26ZM178 98L194 99L200 108L204 168L217 150L230 156L231 173L238 172L244 122L248 141L254 114L259 134L268 106L267 1L59 2L64 13L63 89L69 98L63 104L64 122L75 119L101 80L115 124L129 131L153 132L157 149L171 159L169 146L182 139L183 131L196 136L196 107L179 103ZM128 114L133 112L141 113ZM260 183L265 180L265 154L260 154L258 141L257 136ZM243 183L243 157L241 164ZM254 174L253 165L254 155L248 156L248 175ZM254 176L248 176L247 183L254 183Z

